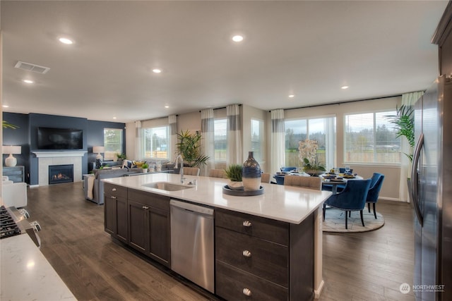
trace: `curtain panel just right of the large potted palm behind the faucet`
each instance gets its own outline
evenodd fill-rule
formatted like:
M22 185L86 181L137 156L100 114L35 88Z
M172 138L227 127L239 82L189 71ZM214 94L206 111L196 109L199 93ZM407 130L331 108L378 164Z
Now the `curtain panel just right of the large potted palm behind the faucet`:
M201 176L208 176L210 169L215 168L215 149L213 144L213 109L201 111L201 152L209 156L206 168L201 168Z

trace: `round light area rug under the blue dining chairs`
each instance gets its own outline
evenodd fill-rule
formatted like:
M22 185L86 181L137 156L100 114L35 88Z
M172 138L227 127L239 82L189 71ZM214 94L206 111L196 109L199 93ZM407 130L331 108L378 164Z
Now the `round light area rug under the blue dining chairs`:
M353 232L367 232L373 231L383 227L384 218L379 212L376 212L376 219L374 211L364 208L363 211L364 227L359 217L359 211L352 211L352 216L348 218L348 226L345 229L345 211L327 208L325 221L323 221L323 232L338 232L338 233L353 233Z

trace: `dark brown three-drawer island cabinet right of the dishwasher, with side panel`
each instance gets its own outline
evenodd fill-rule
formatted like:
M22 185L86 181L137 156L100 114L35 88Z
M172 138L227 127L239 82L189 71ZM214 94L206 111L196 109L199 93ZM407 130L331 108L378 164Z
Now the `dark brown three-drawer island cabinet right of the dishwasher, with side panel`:
M216 294L227 300L314 299L314 216L299 225L215 210Z

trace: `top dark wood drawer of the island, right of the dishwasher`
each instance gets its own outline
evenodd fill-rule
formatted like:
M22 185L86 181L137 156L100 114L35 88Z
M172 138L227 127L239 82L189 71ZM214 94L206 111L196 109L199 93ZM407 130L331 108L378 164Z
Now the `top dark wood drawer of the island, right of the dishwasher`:
M289 225L282 221L217 209L215 225L281 245L289 245Z

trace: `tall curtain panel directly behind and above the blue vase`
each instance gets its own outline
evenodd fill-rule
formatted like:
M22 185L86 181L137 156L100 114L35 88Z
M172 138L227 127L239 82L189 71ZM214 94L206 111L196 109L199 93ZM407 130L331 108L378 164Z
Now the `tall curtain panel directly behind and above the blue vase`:
M242 120L238 104L226 106L227 155L226 164L242 164Z

